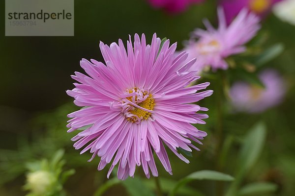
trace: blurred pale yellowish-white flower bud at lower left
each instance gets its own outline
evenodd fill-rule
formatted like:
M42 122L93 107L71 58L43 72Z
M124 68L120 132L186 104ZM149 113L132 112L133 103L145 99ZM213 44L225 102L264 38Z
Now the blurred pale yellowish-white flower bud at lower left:
M55 177L53 173L44 170L30 172L27 175L26 187L33 195L44 196L51 189Z

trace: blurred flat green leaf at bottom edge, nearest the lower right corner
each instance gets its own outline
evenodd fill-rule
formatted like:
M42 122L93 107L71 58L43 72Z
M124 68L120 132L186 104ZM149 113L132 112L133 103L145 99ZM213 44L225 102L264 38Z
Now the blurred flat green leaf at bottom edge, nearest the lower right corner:
M238 196L261 196L262 194L274 193L278 186L270 182L255 182L245 185L238 192Z

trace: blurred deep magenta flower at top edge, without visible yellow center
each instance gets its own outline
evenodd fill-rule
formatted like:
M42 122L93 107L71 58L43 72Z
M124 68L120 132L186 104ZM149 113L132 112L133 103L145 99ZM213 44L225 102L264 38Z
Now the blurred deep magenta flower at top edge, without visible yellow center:
M203 2L204 0L148 0L155 8L164 8L169 13L183 12L189 5Z

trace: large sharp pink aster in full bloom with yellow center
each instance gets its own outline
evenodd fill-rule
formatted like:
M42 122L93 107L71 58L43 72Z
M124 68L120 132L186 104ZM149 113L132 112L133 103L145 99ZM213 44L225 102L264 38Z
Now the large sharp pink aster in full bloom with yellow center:
M147 177L149 172L157 176L153 153L172 174L164 146L189 163L177 149L199 150L191 141L202 144L199 140L207 135L191 124L205 123L202 119L208 116L197 112L207 108L191 103L212 94L199 92L209 83L187 87L200 78L188 71L195 60L184 64L188 54L175 56L176 43L169 46L167 40L159 51L160 43L156 34L151 45L146 45L144 34L141 39L135 34L133 45L129 37L127 50L122 40L110 46L101 42L105 64L82 59L80 65L89 76L72 75L78 83L67 94L85 108L68 115L68 132L89 125L72 138L74 147L84 147L81 153L90 150L89 161L100 157L98 170L112 162L107 177L116 165L119 179L133 177L136 166L142 166Z

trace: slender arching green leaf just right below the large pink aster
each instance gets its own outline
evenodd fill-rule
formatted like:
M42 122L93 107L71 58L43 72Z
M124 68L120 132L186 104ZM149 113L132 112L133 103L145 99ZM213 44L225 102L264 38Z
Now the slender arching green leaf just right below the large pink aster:
M198 172L193 172L186 176L185 178L178 181L177 185L174 187L171 196L174 196L177 193L177 190L193 180L217 180L217 181L233 181L235 178L229 174L211 171L211 170L202 170Z

